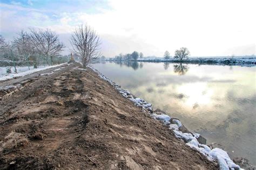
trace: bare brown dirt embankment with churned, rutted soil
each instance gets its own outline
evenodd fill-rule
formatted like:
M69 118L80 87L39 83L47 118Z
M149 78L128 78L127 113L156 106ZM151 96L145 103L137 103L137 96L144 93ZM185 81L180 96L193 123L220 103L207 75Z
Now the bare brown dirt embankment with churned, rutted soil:
M2 98L0 169L218 168L91 69L77 67L29 77Z

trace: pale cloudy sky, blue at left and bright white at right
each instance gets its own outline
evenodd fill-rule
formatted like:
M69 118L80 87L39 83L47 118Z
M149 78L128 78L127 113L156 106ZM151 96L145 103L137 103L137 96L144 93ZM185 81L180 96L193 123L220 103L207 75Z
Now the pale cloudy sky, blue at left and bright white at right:
M255 6L255 0L1 0L0 34L10 41L21 30L51 29L69 54L72 32L87 24L107 57L133 51L161 57L180 47L191 56L255 55Z

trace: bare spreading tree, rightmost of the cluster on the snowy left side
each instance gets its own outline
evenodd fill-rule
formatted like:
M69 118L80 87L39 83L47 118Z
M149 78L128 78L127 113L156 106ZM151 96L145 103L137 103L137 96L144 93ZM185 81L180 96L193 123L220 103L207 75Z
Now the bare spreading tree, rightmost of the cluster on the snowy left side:
M59 53L65 47L62 42L59 41L59 37L55 32L47 29L43 30L30 30L31 31L31 38L33 40L33 45L35 45L39 54L42 54L48 58L51 58L51 65L52 65L52 58L53 56L59 55Z

